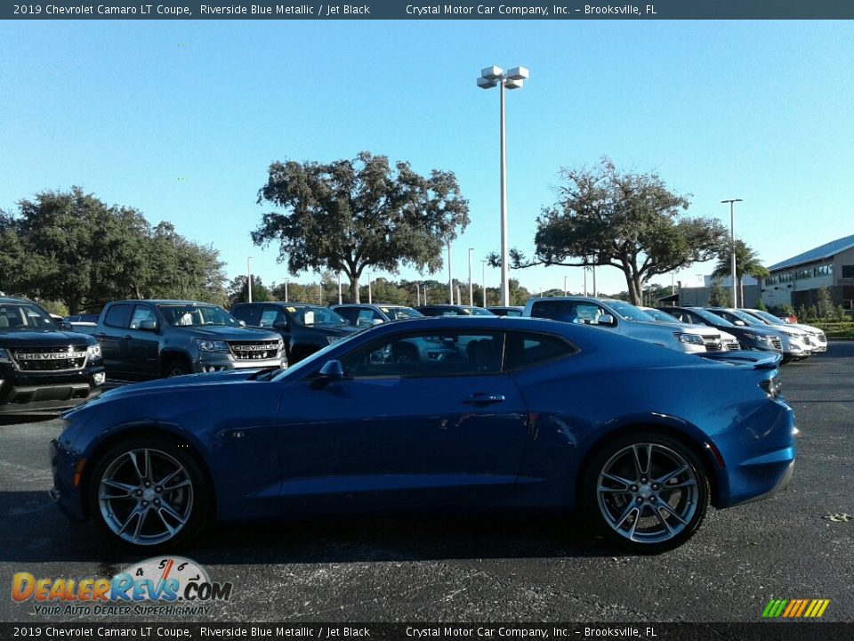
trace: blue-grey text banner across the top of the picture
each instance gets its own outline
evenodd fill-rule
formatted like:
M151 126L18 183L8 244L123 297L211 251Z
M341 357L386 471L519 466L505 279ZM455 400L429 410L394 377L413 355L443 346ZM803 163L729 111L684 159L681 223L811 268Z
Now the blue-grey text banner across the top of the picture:
M6 3L5 20L854 20L854 0L567 2L55 2Z

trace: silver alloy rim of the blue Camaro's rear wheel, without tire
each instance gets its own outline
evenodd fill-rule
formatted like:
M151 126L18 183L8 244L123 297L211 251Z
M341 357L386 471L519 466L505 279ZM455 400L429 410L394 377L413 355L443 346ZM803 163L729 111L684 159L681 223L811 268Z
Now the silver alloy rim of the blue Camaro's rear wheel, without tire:
M661 543L678 536L697 514L697 472L665 445L633 443L602 466L596 495L613 531L635 543Z

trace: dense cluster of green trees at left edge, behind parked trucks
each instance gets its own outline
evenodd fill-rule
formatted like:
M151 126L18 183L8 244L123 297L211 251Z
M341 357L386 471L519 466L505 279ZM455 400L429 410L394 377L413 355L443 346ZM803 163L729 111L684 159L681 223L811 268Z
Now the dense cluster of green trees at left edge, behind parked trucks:
M0 214L0 290L62 301L72 314L125 297L224 302L219 253L171 223L152 229L133 207L108 207L78 187L18 207Z

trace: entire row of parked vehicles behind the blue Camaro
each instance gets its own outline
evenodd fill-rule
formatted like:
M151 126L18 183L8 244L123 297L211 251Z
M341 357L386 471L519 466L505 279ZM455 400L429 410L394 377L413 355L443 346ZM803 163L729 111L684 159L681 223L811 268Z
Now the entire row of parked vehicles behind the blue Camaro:
M784 362L827 348L820 329L759 310L641 309L621 300L586 296L532 298L525 307L487 309L463 304L417 308L337 304L329 308L263 302L236 304L230 312L197 301L125 300L108 303L100 315L69 316L64 321L52 319L23 299L6 297L0 302L5 310L0 312L0 369L15 374L13 381L10 373L0 381L0 412L55 410L85 402L100 393L105 376L144 380L229 369L286 368L361 329L425 316L552 319L608 329L686 353L761 350L781 353ZM88 356L79 361L45 355L44 350L56 353L60 345L69 353L85 346ZM396 362L449 357L441 345L418 341L401 343L384 356Z

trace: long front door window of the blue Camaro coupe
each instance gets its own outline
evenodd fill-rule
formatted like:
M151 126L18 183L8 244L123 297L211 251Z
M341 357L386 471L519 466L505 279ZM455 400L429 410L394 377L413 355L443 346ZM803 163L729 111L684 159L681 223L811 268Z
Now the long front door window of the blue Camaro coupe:
M341 359L347 376L448 377L501 372L500 332L446 330L383 337Z

